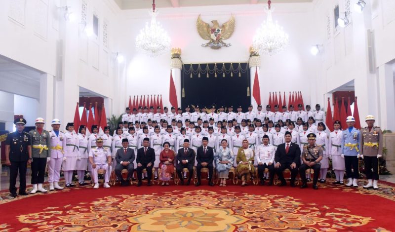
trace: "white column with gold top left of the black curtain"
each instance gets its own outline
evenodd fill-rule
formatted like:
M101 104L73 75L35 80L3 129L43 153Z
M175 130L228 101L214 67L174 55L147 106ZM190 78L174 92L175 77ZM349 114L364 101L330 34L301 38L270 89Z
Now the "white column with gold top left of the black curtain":
M173 77L174 85L177 93L177 105L181 107L181 70L182 70L182 61L181 61L181 49L180 48L172 48L171 49L171 60L170 60L170 68L171 75ZM170 79L169 79L170 81ZM177 112L177 109L176 109Z

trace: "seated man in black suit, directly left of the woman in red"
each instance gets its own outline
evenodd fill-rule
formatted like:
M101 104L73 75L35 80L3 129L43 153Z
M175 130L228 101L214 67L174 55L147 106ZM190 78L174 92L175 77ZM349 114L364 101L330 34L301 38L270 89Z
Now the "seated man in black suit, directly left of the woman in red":
M155 150L150 146L150 139L143 139L143 147L137 150L137 179L139 182L137 183L137 187L141 186L141 177L143 175L143 169L147 170L147 186L151 186L151 178L152 178L152 168L154 167L155 162Z

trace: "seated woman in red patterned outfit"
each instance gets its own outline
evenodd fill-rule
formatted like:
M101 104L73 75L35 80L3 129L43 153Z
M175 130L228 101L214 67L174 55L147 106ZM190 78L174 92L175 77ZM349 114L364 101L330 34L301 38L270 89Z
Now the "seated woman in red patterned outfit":
M174 173L174 160L176 157L174 151L170 150L169 142L164 142L163 148L163 151L161 151L159 155L160 180L162 181L162 186L169 185L169 180Z

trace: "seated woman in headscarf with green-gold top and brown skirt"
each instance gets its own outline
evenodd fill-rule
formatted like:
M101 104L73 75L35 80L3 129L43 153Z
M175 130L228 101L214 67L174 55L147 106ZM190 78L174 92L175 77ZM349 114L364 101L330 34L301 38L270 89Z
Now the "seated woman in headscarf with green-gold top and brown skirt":
M242 181L242 187L247 185L246 181L248 181L251 175L255 173L254 157L255 152L248 147L248 140L244 139L242 142L242 147L237 151L236 158L236 174Z

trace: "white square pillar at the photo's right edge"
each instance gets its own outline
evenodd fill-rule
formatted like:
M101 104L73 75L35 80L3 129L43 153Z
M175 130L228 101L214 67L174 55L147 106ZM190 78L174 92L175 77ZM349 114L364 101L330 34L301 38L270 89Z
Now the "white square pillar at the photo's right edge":
M380 126L386 130L395 129L394 77L391 64L379 67L379 116Z

